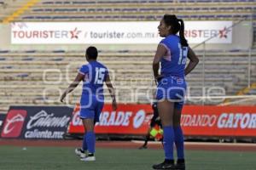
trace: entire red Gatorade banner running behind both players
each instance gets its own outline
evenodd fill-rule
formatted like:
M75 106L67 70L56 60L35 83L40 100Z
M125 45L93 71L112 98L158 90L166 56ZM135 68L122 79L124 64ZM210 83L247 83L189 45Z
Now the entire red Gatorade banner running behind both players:
M119 105L118 111L105 105L96 133L146 134L152 112L151 105ZM185 105L181 125L186 136L256 137L256 107ZM79 105L68 133L84 133Z

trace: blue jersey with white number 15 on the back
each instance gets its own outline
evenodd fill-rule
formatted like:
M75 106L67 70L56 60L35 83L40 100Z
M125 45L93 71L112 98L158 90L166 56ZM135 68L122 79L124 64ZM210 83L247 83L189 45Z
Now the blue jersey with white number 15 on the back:
M90 61L87 65L82 65L79 73L84 75L82 98L88 95L103 97L103 83L106 82L108 69L105 65L95 61ZM86 98L86 97L85 97Z

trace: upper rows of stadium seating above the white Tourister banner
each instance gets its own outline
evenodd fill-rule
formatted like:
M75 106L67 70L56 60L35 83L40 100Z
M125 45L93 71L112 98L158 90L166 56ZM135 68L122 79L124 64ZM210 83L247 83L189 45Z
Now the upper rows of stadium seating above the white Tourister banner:
M11 0L9 0L11 2ZM8 3L6 11L20 7ZM49 1L42 0L16 20L155 20L162 14L175 13L188 20L241 20L253 15L254 1ZM196 11L196 13L195 13Z

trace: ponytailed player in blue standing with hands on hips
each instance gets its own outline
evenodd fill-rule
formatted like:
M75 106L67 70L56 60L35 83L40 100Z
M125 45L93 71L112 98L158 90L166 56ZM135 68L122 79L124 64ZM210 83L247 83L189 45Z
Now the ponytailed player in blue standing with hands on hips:
M157 81L158 111L164 131L165 161L153 166L154 169L185 169L183 131L180 119L183 99L186 93L184 77L198 64L199 59L184 37L183 20L176 15L165 14L158 26L160 37L153 61L154 78ZM177 36L179 32L179 36ZM189 64L186 65L186 59ZM159 74L159 68L160 74ZM177 163L174 163L173 144L177 148Z

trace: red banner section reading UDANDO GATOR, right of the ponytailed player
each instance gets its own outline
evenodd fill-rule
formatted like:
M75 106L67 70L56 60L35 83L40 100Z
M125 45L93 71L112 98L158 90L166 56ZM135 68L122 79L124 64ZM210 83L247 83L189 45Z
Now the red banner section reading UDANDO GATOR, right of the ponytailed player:
M185 135L256 137L256 107L185 106L181 124Z

